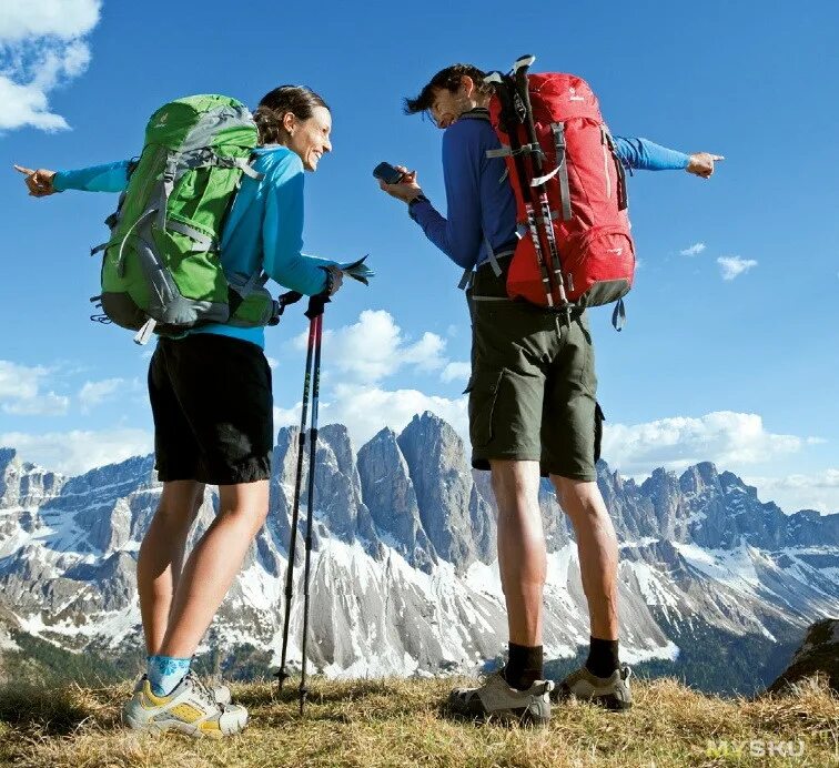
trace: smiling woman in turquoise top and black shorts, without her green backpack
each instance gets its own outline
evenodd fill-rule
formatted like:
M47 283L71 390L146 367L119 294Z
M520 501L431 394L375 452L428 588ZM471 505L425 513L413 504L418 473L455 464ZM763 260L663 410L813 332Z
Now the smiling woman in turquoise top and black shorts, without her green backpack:
M183 100L171 114L176 117L178 109L190 113L186 108L212 98ZM235 118L236 110L224 105L204 120L204 140L212 125ZM332 295L342 270L301 252L303 172L315 171L332 151L326 102L309 88L281 85L263 97L253 120L239 114L234 128L257 132L257 148L254 172L242 178L223 229L225 276L264 271L302 294ZM174 118L159 120L164 130L172 129ZM16 168L36 198L69 189L121 192L131 176L128 161L59 172ZM178 190L175 184L173 198ZM185 230L182 223L175 226ZM231 320L161 336L151 358L154 457L163 488L138 558L148 666L123 708L131 728L219 738L241 731L247 721L245 708L230 704L229 690L208 688L190 663L269 511L274 433L264 346L262 324ZM219 486L219 513L184 559L205 484Z

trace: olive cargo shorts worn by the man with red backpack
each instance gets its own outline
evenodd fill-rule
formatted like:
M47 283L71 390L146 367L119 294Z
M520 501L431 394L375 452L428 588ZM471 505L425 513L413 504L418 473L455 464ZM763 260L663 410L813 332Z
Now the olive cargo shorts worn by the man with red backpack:
M542 474L597 478L603 412L586 314L564 316L506 295L504 276L478 270L469 291L472 465L537 461ZM489 300L487 300L489 299Z

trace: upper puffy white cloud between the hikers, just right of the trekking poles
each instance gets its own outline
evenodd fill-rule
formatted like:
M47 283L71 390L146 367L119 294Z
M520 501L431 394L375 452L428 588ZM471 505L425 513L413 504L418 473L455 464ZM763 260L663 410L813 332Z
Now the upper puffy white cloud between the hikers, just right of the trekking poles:
M309 334L303 333L294 345L305 350L307 338ZM365 310L355 324L323 334L323 356L330 368L367 384L406 365L420 371L441 370L447 363L443 356L445 346L445 341L434 333L424 333L420 341L411 343L384 310Z

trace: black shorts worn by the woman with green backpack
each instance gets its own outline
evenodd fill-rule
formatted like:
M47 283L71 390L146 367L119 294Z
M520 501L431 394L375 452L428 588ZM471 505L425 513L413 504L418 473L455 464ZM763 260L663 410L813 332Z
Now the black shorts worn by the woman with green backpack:
M149 365L149 398L161 482L271 477L271 368L255 344L213 333L161 338Z

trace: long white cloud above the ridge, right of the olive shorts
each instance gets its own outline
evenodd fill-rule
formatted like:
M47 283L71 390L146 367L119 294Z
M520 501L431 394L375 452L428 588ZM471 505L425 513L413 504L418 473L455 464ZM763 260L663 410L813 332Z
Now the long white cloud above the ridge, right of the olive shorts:
M699 462L727 469L796 453L805 439L767 432L752 413L718 411L699 418L676 416L646 424L606 424L603 456L627 475L656 467L680 471Z

